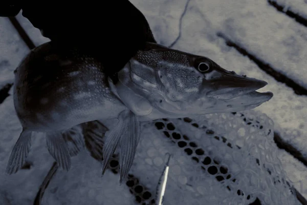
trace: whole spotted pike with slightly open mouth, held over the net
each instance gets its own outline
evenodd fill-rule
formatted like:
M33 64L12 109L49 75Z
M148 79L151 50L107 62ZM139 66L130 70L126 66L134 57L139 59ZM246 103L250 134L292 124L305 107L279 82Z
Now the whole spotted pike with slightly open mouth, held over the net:
M6 173L23 166L35 132L46 133L50 154L69 170L62 133L100 120L108 124L102 174L119 147L122 182L136 154L140 121L249 110L273 96L256 91L265 81L155 43L146 43L112 79L100 61L80 50L62 50L51 42L33 49L15 70L14 106L23 130Z

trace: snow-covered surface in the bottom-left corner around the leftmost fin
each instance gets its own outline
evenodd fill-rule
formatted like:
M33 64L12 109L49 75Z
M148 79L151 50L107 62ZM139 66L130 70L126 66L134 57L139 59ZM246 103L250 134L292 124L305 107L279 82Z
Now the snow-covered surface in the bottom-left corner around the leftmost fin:
M33 205L33 199L48 173L53 159L45 148L45 139L42 136L37 136L36 140L33 140L33 146L27 159L31 169L20 170L15 175L5 175L8 157L21 132L12 96L0 104L0 113L0 195L4 197L3 200L9 201L7 204L10 205Z

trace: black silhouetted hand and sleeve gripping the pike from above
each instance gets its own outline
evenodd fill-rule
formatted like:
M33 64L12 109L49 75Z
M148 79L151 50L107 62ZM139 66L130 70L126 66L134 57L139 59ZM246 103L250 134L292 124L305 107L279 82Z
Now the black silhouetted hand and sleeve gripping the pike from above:
M128 0L0 3L0 15L14 16L19 8L63 49L81 47L99 59L108 75L122 69L146 41L156 43L145 16Z

